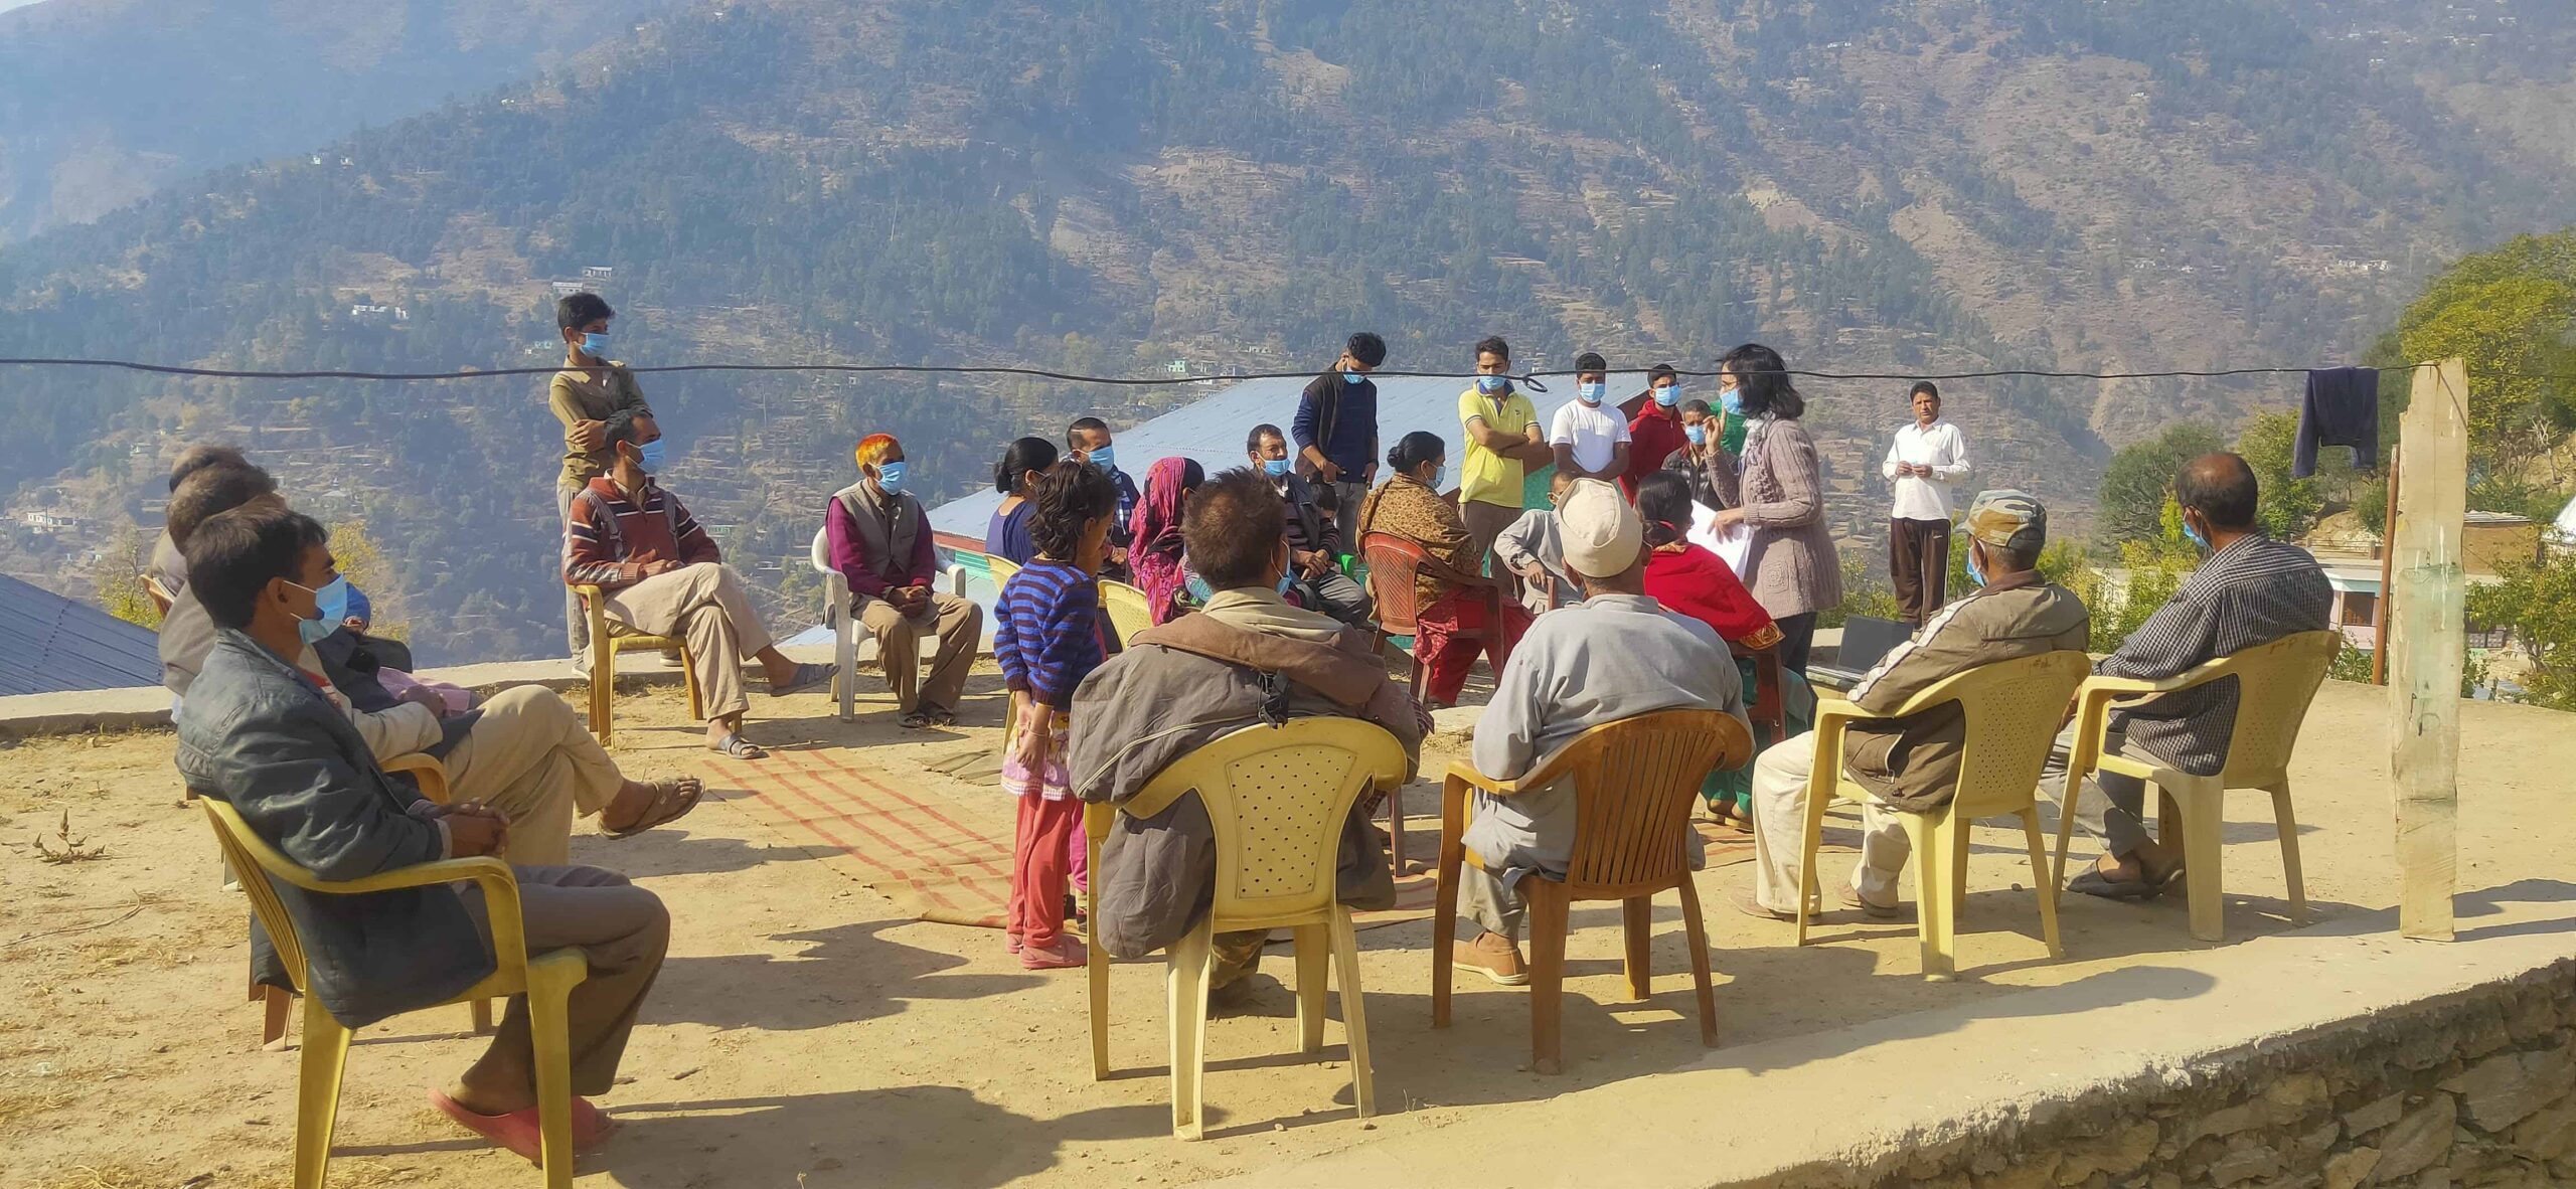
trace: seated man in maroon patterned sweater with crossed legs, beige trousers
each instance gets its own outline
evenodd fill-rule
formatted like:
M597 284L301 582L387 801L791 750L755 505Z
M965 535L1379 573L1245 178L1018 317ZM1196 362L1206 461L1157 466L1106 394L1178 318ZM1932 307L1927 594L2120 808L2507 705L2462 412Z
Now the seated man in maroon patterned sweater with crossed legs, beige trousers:
M742 739L742 656L768 669L770 697L832 679L829 664L796 664L770 643L742 576L719 558L716 540L654 486L647 458L659 461L662 427L652 414L613 414L608 445L616 463L564 515L564 584L600 587L608 623L688 641L690 672L706 705L706 746L734 759L768 751Z

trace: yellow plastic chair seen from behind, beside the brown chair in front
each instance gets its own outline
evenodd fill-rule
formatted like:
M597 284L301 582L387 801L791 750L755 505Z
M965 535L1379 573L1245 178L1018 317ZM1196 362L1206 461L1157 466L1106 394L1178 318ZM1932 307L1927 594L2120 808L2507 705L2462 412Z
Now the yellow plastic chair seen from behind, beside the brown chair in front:
M1301 1050L1324 1047L1324 981L1342 978L1342 1024L1350 1035L1350 1089L1360 1117L1378 1109L1368 1073L1368 1014L1360 1004L1360 947L1350 908L1337 898L1342 821L1370 788L1404 780L1404 746L1376 723L1358 718L1293 718L1285 726L1247 726L1200 746L1162 770L1126 806L1090 806L1087 834L1092 890L1087 908L1100 921L1100 842L1110 816L1151 818L1195 790L1216 826L1216 903L1198 929L1164 952L1164 999L1172 1009L1172 1135L1206 1135L1200 1081L1208 1050L1208 968L1216 934L1293 929L1296 1014ZM1092 939L1092 1078L1110 1076L1110 957Z

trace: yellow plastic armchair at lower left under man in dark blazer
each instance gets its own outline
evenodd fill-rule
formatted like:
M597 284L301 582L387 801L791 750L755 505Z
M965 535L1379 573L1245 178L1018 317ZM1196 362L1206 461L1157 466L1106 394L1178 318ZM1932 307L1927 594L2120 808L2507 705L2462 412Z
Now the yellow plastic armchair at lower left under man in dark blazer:
M278 960L289 978L304 988L304 939L294 916L270 880L325 896L361 896L394 888L428 888L440 883L474 880L484 893L484 916L492 926L492 955L500 965L482 983L469 986L448 1004L466 1004L495 996L528 996L528 1035L536 1047L536 1107L546 1189L572 1186L572 1037L564 1011L572 988L590 975L580 950L549 950L531 957L518 916L518 880L510 865L495 857L420 862L363 880L317 880L296 867L286 854L263 842L242 824L242 816L224 798L198 798L206 821L214 826L224 857L242 872L242 890L250 908L260 914ZM350 1029L332 1019L319 999L304 1001L304 1055L296 1071L296 1168L294 1189L322 1189L330 1168L330 1135L340 1117L340 1073L348 1068Z

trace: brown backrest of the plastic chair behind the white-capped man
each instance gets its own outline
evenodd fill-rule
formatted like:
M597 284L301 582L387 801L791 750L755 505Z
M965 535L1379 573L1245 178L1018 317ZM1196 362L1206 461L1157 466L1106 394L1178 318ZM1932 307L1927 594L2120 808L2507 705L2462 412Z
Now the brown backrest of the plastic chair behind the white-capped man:
M1574 777L1574 857L1566 885L1664 885L1687 854L1690 806L1721 759L1752 754L1752 733L1726 710L1656 710L1595 726L1517 780Z

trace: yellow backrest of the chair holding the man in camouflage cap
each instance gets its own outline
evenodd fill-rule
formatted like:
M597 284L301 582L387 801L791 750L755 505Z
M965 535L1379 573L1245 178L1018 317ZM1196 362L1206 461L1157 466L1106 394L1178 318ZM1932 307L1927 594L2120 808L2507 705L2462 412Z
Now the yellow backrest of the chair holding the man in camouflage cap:
M1953 813L2017 813L2032 800L2058 721L2087 674L2092 656L2071 649L1981 664L1914 695L1891 718L1958 703L1968 741L1958 757Z

